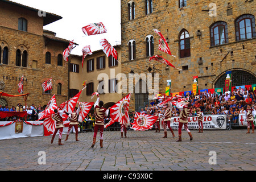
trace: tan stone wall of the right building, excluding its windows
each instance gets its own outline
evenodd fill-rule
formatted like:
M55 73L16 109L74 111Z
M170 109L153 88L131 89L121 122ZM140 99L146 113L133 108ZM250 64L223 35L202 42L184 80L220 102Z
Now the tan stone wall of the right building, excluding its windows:
M192 77L199 76L199 89L214 88L214 83L226 71L242 70L256 76L256 39L236 41L235 20L243 14L255 14L255 1L214 1L217 16L209 16L209 2L187 1L187 6L179 8L179 1L153 1L153 13L146 15L145 1L135 2L135 19L129 20L128 2L121 1L122 28L122 73L148 73L148 67L154 64L158 69L159 90L165 91L166 81L172 80L172 92L192 90ZM214 22L224 21L228 24L229 43L221 46L210 46L210 26ZM158 50L160 37L155 34L156 28L168 39L172 57ZM191 42L191 56L179 58L179 35L181 30L189 32ZM154 55L163 56L175 67L166 66L158 62L149 62L146 57L147 35L154 36ZM129 60L127 43L134 39L136 42L136 59ZM228 54L232 52L232 54ZM226 58L224 59L224 57ZM224 59L224 60L222 60ZM161 75L162 74L162 75ZM123 94L125 95L125 94ZM134 110L134 94L131 99L131 110Z

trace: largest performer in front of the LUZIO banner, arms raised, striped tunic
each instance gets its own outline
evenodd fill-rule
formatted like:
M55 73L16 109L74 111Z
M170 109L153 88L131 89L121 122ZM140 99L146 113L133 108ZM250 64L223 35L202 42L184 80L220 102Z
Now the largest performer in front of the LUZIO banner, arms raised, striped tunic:
M191 109L192 105L191 105L191 103L189 102L188 105L181 106L176 101L176 107L177 107L177 109L180 110L179 139L177 140L177 142L181 142L181 129L182 129L183 125L184 125L184 129L188 132L190 140L193 140L192 134L188 130L188 116L192 112L192 109Z

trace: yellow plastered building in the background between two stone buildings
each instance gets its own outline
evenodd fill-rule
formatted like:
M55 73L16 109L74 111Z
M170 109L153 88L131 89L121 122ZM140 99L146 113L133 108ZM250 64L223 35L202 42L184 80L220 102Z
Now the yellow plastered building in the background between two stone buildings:
M114 46L118 53L118 61L121 61L121 46ZM92 55L87 55L82 68L82 56L70 56L70 89L69 97L75 96L84 88L82 85L86 81L86 89L82 91L79 101L94 102L92 93L100 93L104 107L108 108L122 99L121 89L117 85L118 74L121 73L121 64L112 56L107 57L102 50L94 51ZM101 64L102 63L102 64ZM103 82L102 82L103 81ZM99 89L101 87L102 90Z

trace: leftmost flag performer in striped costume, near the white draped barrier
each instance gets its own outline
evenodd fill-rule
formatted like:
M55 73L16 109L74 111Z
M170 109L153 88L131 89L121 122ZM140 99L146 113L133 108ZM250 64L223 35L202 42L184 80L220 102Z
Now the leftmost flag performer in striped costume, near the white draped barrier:
M57 109L55 109L54 112L55 112L55 114L53 115L52 118L56 121L56 129L52 135L51 143L53 143L55 135L57 134L57 131L59 131L59 146L62 146L63 144L61 143L61 137L62 137L63 128L64 128L63 119Z

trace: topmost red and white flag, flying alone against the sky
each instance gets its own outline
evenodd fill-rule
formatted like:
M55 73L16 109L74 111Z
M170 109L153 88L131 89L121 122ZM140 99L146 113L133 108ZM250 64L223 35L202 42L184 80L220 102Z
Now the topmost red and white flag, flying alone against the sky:
M88 26L82 27L82 31L85 35L97 35L104 34L107 32L106 27L102 22L100 23L90 23Z

